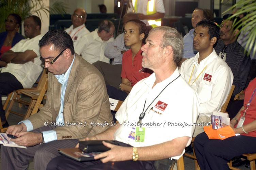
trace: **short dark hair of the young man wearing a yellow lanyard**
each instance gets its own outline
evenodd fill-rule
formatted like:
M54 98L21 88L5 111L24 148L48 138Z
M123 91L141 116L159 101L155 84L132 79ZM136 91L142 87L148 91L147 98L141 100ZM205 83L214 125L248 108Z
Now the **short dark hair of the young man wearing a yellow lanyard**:
M217 44L218 40L220 39L220 27L218 27L213 21L203 19L196 24L196 27L202 26L203 28L208 28L208 34L210 35L211 40L213 37L217 38L215 44Z

